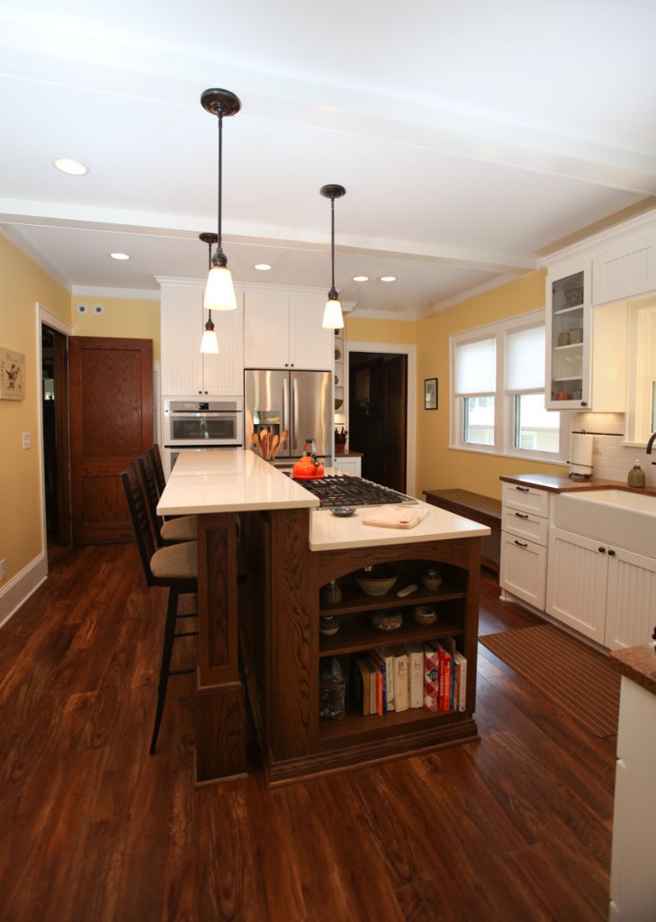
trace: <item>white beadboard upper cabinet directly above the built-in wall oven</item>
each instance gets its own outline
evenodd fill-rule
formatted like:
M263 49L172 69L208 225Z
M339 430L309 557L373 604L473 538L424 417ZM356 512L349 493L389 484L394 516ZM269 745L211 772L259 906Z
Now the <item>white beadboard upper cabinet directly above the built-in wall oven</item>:
M243 391L243 295L236 311L215 311L218 355L201 352L207 320L201 283L161 285L161 389L166 396L231 396Z

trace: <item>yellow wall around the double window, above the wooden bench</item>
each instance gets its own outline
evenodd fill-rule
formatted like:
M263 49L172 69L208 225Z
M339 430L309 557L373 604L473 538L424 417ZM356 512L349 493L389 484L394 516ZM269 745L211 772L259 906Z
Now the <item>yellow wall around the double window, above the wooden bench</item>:
M553 464L449 448L449 337L505 317L544 308L545 275L545 270L534 272L418 321L417 496L424 490L459 488L500 499L501 475L563 473L563 467ZM439 380L437 410L424 409L425 378Z

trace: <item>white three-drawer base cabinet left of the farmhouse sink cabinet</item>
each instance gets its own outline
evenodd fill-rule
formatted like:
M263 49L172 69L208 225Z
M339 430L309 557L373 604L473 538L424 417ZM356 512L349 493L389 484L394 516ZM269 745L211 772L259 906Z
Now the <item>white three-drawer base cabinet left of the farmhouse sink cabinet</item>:
M549 494L511 483L502 490L499 585L544 611Z

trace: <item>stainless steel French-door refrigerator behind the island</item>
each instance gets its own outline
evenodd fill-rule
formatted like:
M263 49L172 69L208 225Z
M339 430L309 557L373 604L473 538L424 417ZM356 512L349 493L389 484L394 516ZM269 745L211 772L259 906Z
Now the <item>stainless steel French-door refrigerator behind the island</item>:
M289 436L276 462L298 458L303 445L314 440L318 457L330 459L334 449L334 397L332 372L284 372L247 369L244 372L244 438L252 444L253 432L266 428Z

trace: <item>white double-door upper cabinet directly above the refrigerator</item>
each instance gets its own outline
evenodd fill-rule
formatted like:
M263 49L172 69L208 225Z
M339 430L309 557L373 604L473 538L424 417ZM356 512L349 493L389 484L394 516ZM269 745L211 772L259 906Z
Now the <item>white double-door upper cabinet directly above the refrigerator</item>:
M325 296L247 290L244 367L333 369L334 331L322 327Z

